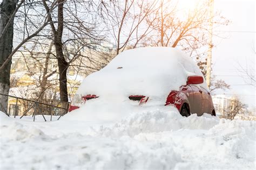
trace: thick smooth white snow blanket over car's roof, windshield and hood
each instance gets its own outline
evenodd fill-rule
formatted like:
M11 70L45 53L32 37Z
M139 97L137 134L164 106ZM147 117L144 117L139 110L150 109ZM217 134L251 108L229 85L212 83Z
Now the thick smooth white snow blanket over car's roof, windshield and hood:
M144 47L124 51L103 69L87 76L77 94L106 100L148 96L164 104L171 90L186 84L188 75L202 75L184 52L170 47ZM204 87L204 84L201 84ZM149 101L149 102L150 102Z

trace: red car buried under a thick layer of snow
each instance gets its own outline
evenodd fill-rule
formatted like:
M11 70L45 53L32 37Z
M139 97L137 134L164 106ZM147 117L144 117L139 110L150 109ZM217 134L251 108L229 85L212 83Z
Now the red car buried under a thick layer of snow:
M184 52L170 47L136 48L117 55L103 69L84 79L69 111L82 106L86 110L90 102L97 103L94 110L111 104L119 111L172 105L182 116L215 116L200 69Z

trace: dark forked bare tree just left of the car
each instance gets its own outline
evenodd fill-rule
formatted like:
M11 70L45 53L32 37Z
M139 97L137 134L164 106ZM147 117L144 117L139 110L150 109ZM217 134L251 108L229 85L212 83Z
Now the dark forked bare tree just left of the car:
M91 47L91 41L93 44L96 41L103 40L103 38L99 32L95 31L99 20L93 15L93 5L95 4L91 1L68 3L64 0L58 0L56 2L58 6L57 11L50 12L49 4L51 2L43 0L45 10L50 13L48 18L50 20L52 37L50 35L48 37L52 38L54 42L56 59L58 61L60 101L65 105L68 102L66 73L71 62L79 56L79 51L82 51L84 47ZM85 15L88 18L82 18L79 12L83 14L86 12ZM95 21L88 20L89 18L93 18ZM65 57L66 45L69 43L73 43L75 46L82 44L77 55L73 56L73 58Z

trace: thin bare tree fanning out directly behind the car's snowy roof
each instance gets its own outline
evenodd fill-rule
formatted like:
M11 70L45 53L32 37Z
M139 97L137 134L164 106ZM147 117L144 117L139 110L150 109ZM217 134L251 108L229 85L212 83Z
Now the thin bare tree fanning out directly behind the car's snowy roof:
M101 11L111 34L110 38L116 44L116 55L126 48L136 48L152 31L150 25L146 25L146 18L158 10L157 3L158 0L125 0L104 4ZM154 18L151 22L153 21Z

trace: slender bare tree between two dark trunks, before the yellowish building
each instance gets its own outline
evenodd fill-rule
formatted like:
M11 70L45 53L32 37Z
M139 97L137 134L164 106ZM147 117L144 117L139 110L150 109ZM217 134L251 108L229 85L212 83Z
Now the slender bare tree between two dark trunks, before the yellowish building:
M12 66L15 71L11 74L11 80L16 84L10 86L11 95L51 105L59 104L58 88L56 88L58 75L57 69L53 67L55 58L52 46L53 43L35 42L31 47L24 46L21 51L18 51L19 58L13 59L19 64ZM19 76L21 71L22 77ZM25 100L19 100L19 103L24 112L35 104ZM50 114L50 108L47 105L39 104L38 109L44 114Z

